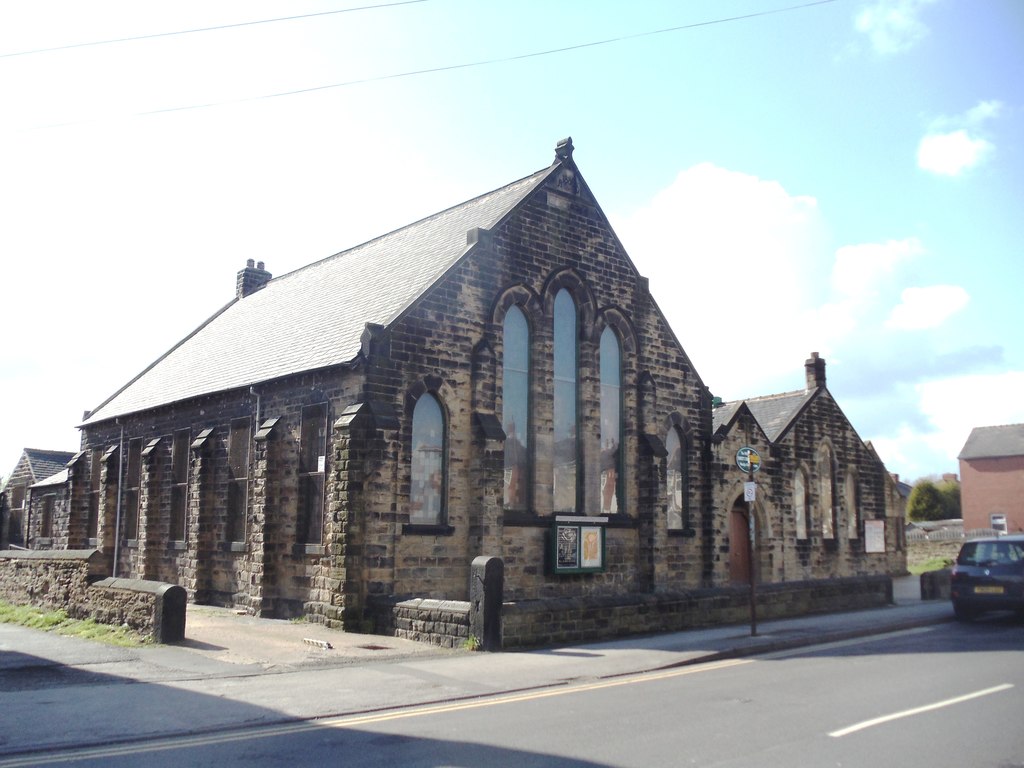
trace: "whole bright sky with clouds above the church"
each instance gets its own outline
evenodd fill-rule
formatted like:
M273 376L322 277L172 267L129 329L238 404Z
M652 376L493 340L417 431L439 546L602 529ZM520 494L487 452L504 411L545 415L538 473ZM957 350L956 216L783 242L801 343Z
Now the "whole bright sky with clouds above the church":
M231 300L581 173L713 394L1024 422L1024 0L6 0L0 475ZM383 275L382 275L383 276Z

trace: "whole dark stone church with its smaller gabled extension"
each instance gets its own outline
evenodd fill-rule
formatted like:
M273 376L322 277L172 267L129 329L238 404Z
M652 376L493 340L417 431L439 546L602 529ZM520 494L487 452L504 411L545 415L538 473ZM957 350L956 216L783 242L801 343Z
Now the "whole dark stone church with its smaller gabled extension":
M346 627L467 600L479 556L510 602L903 572L893 482L824 360L805 373L719 403L567 139L550 167L291 273L250 261L230 303L86 415L50 542L196 602Z

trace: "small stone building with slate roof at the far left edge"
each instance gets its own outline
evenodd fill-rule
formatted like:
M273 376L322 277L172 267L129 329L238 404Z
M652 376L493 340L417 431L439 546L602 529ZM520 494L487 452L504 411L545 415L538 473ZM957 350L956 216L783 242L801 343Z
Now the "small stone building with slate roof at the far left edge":
M22 451L17 464L0 488L0 549L12 546L45 548L51 545L50 537L44 537L42 532L49 532L56 521L54 506L62 503L61 487L58 482L43 483L63 472L74 457L75 454L65 451ZM34 492L37 483L40 485ZM34 508L38 513L35 516ZM41 525L42 522L46 524ZM36 541L37 537L47 541Z

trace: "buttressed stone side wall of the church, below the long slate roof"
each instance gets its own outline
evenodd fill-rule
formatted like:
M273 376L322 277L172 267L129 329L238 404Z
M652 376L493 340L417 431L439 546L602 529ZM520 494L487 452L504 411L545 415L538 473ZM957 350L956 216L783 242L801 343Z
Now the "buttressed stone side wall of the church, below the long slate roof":
M330 423L354 399L355 392L344 371L325 370L123 417L120 424L87 425L83 447L90 457L103 456L109 462L102 475L106 493L97 546L113 563L117 449L123 441L127 454L132 440L141 440L146 453L139 536L126 541L122 519L118 575L177 584L195 602L243 608L256 615L288 618L303 614L310 601L321 599L319 585L329 565L324 543L307 544L298 535L302 410L327 403L325 422ZM231 536L228 446L231 424L239 420L250 425L251 470L243 489L246 516ZM267 424L272 427L264 432L261 428ZM184 430L189 433L190 450L182 540L179 534L172 536L170 528L172 450L175 434ZM323 453L325 474L330 474L330 452ZM127 512L122 510L122 518Z

